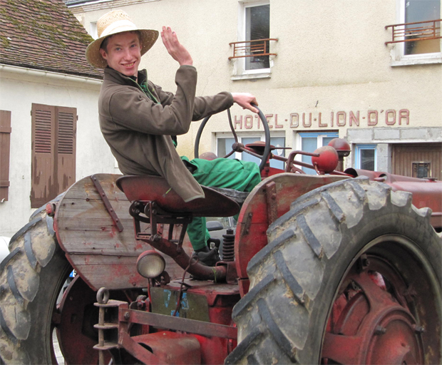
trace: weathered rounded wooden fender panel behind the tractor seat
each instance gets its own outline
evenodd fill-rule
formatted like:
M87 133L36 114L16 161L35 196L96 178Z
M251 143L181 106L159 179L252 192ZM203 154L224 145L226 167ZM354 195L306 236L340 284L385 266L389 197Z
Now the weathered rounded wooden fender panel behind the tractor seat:
M121 175L93 176L103 187L123 231L118 231L91 176L88 176L69 187L58 203L54 219L58 243L73 268L92 289L146 287L147 279L138 274L135 264L142 252L153 248L135 240L133 218L129 215L130 201L115 185ZM148 225L144 229L150 230ZM167 233L165 228L165 237ZM175 227L174 236L179 233L180 227ZM188 240L183 247L191 253ZM183 276L183 269L173 259L163 257L171 278Z

